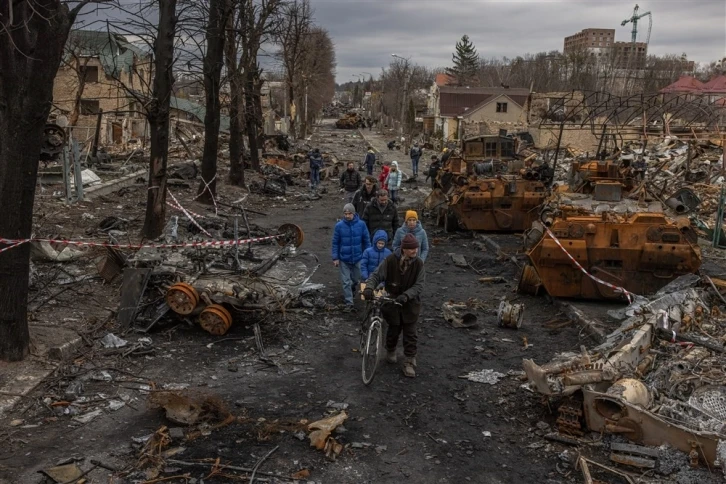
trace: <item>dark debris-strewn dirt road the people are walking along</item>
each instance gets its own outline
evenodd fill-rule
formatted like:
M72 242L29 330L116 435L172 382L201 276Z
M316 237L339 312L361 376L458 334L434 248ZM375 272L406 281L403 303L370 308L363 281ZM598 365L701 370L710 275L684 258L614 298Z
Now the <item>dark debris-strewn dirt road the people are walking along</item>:
M400 153L387 152L384 138L364 134L386 159L401 157ZM339 158L355 159L362 158L366 145L353 132L330 126L318 128L312 143ZM410 167L406 163L402 166L404 171ZM58 415L43 404L50 393L63 392L52 382L43 386L34 396L38 404L20 407L12 416L22 423L6 427L0 436L4 442L0 479L38 482L39 469L70 457L85 459L81 465L84 469L90 468L91 459L117 468L136 464L139 454L132 438L148 435L161 425L174 425L159 410L147 407L146 394L129 381L132 375L139 378L135 381L153 382L157 389L177 385L203 390L215 395L233 414L249 417L244 423L209 427L194 439L178 442L183 450L173 458L185 462L218 458L223 464L249 468L279 446L260 471L289 477L308 469L307 480L322 483L568 481L556 469L556 453L564 447L542 439L555 415L538 395L520 388L522 382L516 372L521 370L522 358L548 361L556 352L577 350L582 337L578 328L570 325L546 329L543 323L551 321L556 310L546 298L515 293L515 263L491 250L482 250L481 242L471 234L445 234L432 220L424 219L432 249L426 262L417 377L407 379L398 365L382 363L373 384L364 386L360 357L355 351L360 312L344 314L337 309L342 302L340 283L330 258L332 228L344 201L337 182L325 181L324 185L328 193L320 200L263 200L260 203L265 203L268 216L253 221L267 227L295 222L303 228L305 244L301 249L320 260L321 267L312 282L325 285L327 309L290 314L263 326L267 361L259 358L252 331L244 324L233 326L224 341L198 327L184 325L154 333L154 353L127 359L120 368L128 379L116 371L114 381L93 380L87 384L85 394L101 402L96 405L103 406L104 398L129 396L123 408L110 411L103 407L102 415L87 424ZM420 209L425 193L416 184L405 186L401 214L408 208ZM135 190L145 193L143 186ZM238 195L226 186L220 190L222 196ZM193 190L187 192L191 196ZM493 238L511 255L519 250L517 236ZM471 267L454 266L450 254L464 255ZM480 283L482 276L501 276L506 282ZM495 312L502 297L525 304L524 324L519 331L497 327ZM444 321L441 306L448 300L469 300L478 308L478 325L460 329ZM116 302L107 304L113 306ZM523 337L530 345L527 349ZM103 369L103 361L94 360L92 353L83 358L82 368ZM482 369L514 374L494 385L460 378ZM89 408L93 405L89 401ZM326 416L331 406L346 406L349 414L344 428L336 434L346 448L335 462L311 448L306 438L296 437L292 429L292 424L302 419L313 421ZM207 477L210 467L174 463L167 463L165 473L159 477L184 473L203 478L206 483L230 482L221 475ZM91 482L108 482L109 474L96 469L88 478ZM288 481L270 475L260 477L270 482ZM167 482L201 481L179 478Z

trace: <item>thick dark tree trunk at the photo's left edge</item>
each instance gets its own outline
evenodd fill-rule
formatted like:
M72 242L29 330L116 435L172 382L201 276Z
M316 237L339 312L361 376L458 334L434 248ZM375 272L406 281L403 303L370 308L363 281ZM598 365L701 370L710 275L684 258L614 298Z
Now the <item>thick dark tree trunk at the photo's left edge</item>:
M10 3L0 3L0 238L27 239L53 79L74 15L57 0L13 2L8 26ZM30 244L0 252L0 360L28 355L29 269Z

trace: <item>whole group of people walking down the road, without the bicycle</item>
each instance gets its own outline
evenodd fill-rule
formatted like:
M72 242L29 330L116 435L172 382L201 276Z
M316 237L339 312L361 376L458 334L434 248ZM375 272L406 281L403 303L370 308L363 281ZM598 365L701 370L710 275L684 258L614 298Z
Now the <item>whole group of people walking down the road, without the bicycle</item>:
M423 149L414 144L411 162L414 176ZM319 150L309 154L311 187L319 184L322 158ZM415 161L414 161L415 160ZM435 161L438 161L436 159ZM338 268L344 312L355 312L355 297L360 290L364 299L374 297L374 290L385 288L397 305L382 308L388 323L386 361L396 363L396 346L403 336L403 373L416 375L416 329L421 312L421 294L425 283L424 261L429 254L426 231L414 210L399 219L398 193L403 175L396 161L385 163L376 178L373 171L376 154L368 148L363 177L354 163L348 163L340 175L340 189L345 193L343 217L336 223L331 243L331 258ZM428 173L431 175L430 171Z

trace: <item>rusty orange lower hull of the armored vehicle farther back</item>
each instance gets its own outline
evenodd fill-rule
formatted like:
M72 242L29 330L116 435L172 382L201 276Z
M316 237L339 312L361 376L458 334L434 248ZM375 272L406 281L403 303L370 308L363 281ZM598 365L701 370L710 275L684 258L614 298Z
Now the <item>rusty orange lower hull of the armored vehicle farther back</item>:
M453 189L447 211L462 229L522 232L537 220L546 196L539 181L478 179Z

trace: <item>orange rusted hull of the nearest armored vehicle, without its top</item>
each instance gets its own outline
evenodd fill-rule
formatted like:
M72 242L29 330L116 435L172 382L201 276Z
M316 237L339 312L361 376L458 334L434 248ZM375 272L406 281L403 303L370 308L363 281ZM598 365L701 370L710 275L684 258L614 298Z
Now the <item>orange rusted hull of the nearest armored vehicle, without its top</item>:
M653 294L701 265L690 225L676 224L662 214L557 218L550 231L567 253L544 233L527 253L532 265L520 277L522 292L543 287L553 297L625 297L584 274L568 253L592 276L639 295Z

